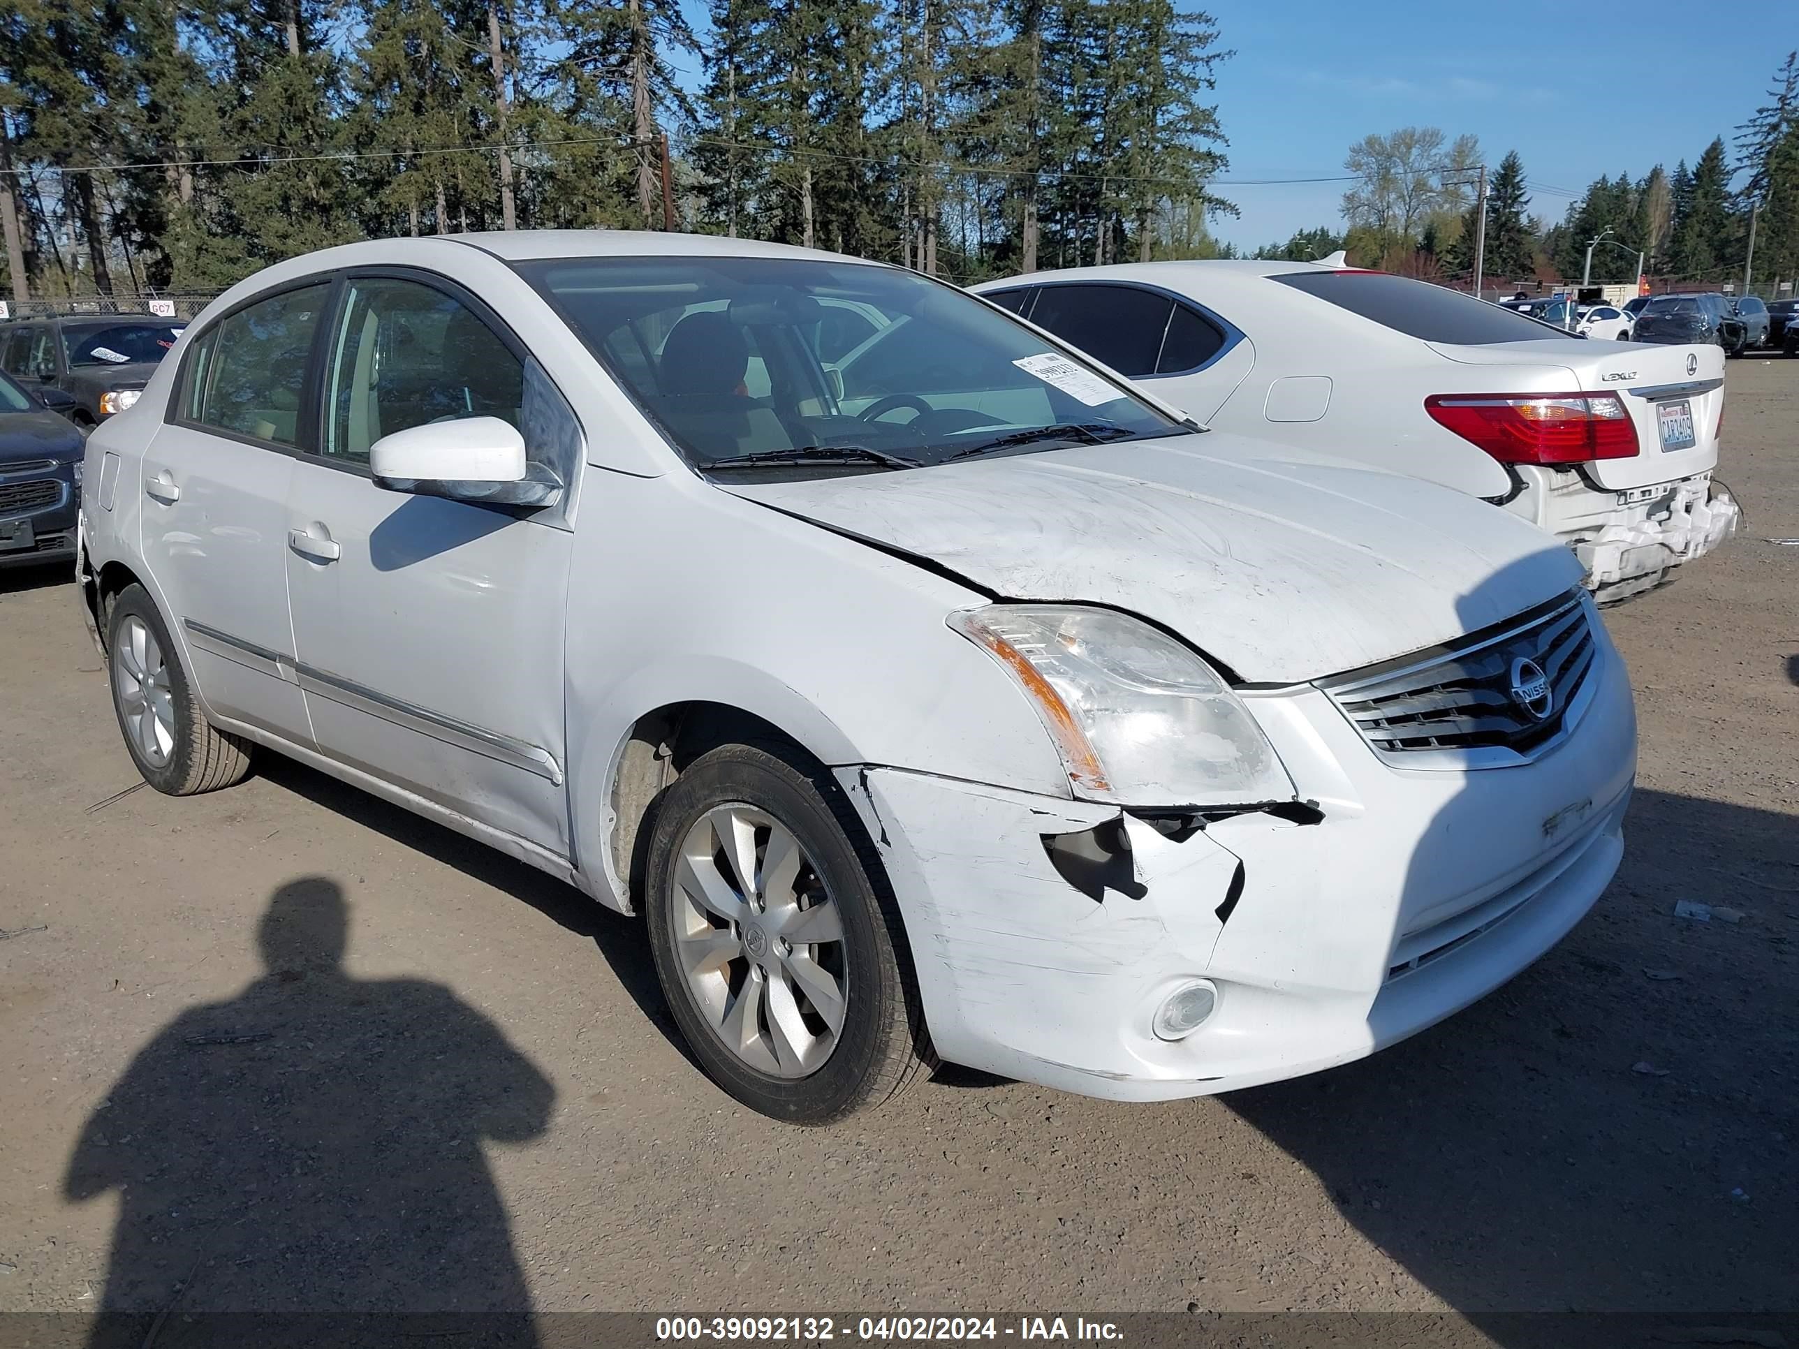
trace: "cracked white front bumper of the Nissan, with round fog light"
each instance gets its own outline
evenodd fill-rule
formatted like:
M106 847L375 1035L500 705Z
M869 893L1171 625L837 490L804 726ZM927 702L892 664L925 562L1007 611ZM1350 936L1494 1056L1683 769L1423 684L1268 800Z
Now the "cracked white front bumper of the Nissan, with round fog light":
M1173 1099L1362 1058L1536 960L1623 854L1635 718L1599 696L1535 763L1396 770L1317 691L1254 700L1322 818L1171 829L928 773L838 777L887 863L937 1052L1112 1099ZM1083 865L1085 863L1085 865ZM1196 978L1216 1011L1162 1040Z

